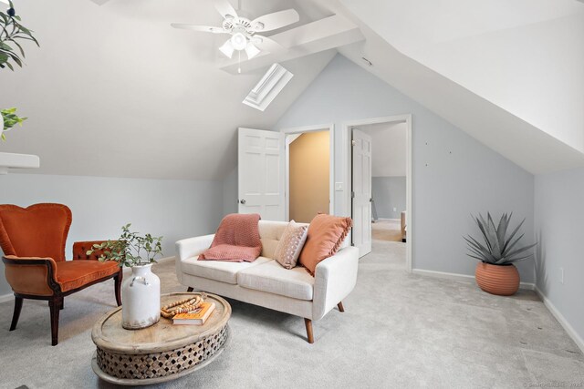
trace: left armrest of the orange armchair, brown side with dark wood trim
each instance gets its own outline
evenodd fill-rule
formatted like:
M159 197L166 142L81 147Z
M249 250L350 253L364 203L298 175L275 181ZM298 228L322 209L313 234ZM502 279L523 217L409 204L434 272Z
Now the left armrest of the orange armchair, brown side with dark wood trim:
M52 296L61 292L57 282L57 264L52 258L2 257L6 281L16 293Z

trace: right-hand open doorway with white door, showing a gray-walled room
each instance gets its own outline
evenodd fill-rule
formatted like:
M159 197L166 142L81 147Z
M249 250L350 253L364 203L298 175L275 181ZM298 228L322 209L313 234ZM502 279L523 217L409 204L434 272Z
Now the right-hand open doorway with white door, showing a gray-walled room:
M345 125L352 244L400 252L412 271L412 121L410 115Z

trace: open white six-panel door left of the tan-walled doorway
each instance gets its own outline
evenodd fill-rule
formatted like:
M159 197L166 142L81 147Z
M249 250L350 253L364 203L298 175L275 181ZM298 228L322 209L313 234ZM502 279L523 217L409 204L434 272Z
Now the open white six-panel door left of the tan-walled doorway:
M239 128L239 213L284 220L284 134Z

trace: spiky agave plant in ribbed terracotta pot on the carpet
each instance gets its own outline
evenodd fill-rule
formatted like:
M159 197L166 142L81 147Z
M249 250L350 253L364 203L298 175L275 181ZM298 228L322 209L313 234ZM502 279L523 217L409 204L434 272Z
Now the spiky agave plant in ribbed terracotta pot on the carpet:
M515 230L507 234L512 215L513 212L508 215L504 213L495 225L490 213L487 212L486 220L479 214L478 217L473 217L473 220L481 230L485 243L475 240L470 235L464 238L470 251L467 255L480 261L474 271L476 283L483 291L491 294L510 296L517 292L520 280L514 263L531 258L533 253L528 250L537 244L517 247L517 243L525 235L522 233L516 237L525 219Z

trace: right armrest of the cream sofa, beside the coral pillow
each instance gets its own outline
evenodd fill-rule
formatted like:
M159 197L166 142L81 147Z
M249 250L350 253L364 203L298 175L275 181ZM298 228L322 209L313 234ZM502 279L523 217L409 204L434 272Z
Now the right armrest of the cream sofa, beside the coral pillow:
M321 319L355 287L359 270L359 249L346 247L320 261L315 271L312 320Z

